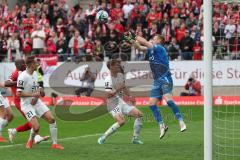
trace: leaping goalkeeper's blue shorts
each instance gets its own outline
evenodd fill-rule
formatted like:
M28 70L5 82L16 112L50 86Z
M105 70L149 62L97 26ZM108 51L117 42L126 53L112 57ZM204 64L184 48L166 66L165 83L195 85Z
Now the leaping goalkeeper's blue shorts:
M164 77L159 80L154 80L150 97L162 99L164 94L172 94L173 90L173 81L171 77Z

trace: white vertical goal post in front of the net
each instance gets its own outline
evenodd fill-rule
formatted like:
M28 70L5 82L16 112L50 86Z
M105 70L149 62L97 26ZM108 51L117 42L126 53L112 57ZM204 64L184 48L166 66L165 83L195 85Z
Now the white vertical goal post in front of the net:
M203 1L204 160L212 160L212 0Z

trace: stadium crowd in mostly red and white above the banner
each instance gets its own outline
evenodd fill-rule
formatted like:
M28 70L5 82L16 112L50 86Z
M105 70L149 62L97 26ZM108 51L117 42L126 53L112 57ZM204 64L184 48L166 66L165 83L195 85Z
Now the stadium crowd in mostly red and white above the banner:
M231 53L238 59L240 4L215 1L213 6L214 56L224 59ZM106 24L95 18L101 9L109 13ZM3 2L0 60L39 54L59 55L59 61L144 60L144 53L122 41L128 30L147 39L162 34L171 60L201 60L202 0L96 0L85 10L81 1L71 8L65 0L28 0L12 10Z

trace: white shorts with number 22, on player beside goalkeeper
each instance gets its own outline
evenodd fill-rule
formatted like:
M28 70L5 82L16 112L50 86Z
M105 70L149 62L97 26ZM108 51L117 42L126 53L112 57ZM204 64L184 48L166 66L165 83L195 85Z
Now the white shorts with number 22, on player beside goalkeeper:
M109 113L111 113L113 117L115 117L118 114L128 115L129 112L134 108L135 106L131 106L121 99L119 101L119 105L115 107L113 110L111 110Z

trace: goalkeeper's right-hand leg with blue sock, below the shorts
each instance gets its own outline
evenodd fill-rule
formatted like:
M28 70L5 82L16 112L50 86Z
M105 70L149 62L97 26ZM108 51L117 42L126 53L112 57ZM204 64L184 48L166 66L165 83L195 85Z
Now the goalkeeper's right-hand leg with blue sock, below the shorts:
M179 107L175 104L175 102L172 100L172 95L171 94L165 94L164 95L165 100L167 101L168 106L172 109L172 112L174 113L175 117L179 121L179 126L180 126L180 131L184 132L187 127L186 124L183 121L183 116L179 110Z

